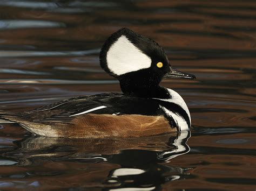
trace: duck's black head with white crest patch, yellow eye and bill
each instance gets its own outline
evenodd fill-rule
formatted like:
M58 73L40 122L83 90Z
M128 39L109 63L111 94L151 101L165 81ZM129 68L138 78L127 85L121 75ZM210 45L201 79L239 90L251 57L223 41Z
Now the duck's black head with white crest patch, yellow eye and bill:
M164 77L194 79L172 68L164 49L154 40L123 28L100 51L100 66L120 81L124 93L159 87Z

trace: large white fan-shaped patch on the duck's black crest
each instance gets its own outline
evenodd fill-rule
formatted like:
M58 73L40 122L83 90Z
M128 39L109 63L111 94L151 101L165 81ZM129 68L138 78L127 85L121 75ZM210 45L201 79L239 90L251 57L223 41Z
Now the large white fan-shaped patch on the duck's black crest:
M107 67L117 75L134 72L151 66L151 58L121 36L109 48L106 55Z

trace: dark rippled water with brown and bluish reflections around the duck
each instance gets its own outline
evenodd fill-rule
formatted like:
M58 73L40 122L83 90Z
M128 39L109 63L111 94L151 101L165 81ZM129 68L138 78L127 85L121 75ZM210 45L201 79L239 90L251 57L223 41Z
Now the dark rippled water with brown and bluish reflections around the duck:
M184 97L191 132L67 140L1 123L0 189L255 190L255 10L254 1L2 0L1 110L120 92L98 54L123 26L197 80L162 82Z

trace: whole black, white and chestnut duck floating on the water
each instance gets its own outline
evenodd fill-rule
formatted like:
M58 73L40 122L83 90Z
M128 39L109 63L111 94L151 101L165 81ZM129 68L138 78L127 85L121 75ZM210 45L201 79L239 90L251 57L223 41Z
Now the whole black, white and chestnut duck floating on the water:
M190 129L185 101L160 82L196 76L174 69L156 41L124 27L107 38L99 60L122 93L72 97L24 112L0 110L0 118L34 135L60 138L149 137Z

